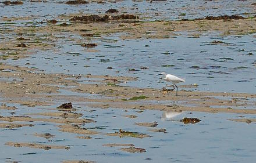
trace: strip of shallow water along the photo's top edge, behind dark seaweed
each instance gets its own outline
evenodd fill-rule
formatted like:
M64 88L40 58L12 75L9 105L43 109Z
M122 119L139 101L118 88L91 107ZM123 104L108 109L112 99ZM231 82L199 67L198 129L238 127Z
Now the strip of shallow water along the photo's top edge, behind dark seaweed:
M205 16L219 15L245 15L253 16L255 8L251 3L253 0L236 1L116 1L116 3L89 3L86 5L67 5L66 1L48 1L47 3L31 3L23 1L24 4L5 6L0 3L2 12L0 16L33 16L35 21L55 18L59 15L70 13L81 14L105 14L110 8L116 8L123 13L136 13L144 20L177 20L194 19ZM185 16L181 16L186 13Z

